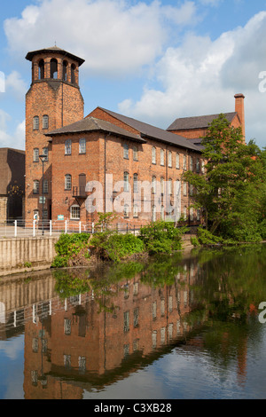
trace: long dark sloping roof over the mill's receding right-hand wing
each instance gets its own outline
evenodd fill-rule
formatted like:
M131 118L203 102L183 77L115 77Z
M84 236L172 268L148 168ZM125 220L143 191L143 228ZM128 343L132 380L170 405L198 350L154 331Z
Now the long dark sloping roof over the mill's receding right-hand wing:
M114 113L110 110L107 110L103 107L98 107L107 114L110 114L115 119L127 124L131 128L139 131L142 138L152 138L155 140L159 140L160 142L168 143L169 145L181 146L186 149L191 149L192 151L200 152L200 146L196 146L192 144L192 142L182 136L176 135L175 133L170 133L167 130L162 130L160 128L156 128L155 126L140 122L136 119L132 119L131 117L124 116L122 114Z

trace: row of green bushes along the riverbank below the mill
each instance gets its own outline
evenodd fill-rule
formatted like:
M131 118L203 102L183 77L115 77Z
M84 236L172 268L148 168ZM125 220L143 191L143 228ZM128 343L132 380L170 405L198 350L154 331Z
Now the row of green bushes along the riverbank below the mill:
M62 234L56 243L57 256L51 266L78 266L91 256L94 260L119 263L136 256L169 254L182 248L185 231L185 227L176 227L174 222L158 221L142 227L138 236L108 230L93 235Z

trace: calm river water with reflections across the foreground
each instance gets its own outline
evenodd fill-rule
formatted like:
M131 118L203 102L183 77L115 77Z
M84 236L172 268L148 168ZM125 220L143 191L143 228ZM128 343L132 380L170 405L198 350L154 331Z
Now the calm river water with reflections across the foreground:
M262 302L266 245L4 277L0 398L265 398Z

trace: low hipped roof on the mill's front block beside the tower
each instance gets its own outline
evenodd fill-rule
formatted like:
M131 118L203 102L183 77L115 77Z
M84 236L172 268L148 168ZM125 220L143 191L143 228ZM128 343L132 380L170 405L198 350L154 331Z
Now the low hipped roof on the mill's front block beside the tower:
M114 135L121 136L123 138L129 138L131 140L135 140L137 142L145 143L145 139L141 138L139 135L129 132L128 130L121 129L118 126L115 126L113 123L106 122L101 119L96 119L95 117L87 117L82 119L79 122L74 122L72 124L68 124L62 128L51 130L45 133L45 136L53 137L68 133L85 133L90 131L106 131L113 133Z

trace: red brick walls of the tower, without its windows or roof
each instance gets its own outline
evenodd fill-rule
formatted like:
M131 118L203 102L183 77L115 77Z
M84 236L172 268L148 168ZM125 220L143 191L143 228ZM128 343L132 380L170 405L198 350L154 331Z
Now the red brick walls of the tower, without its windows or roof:
M42 214L42 204L39 203L39 196L42 195L42 162L33 161L34 148L39 148L39 153L43 153L43 147L49 147L49 161L44 162L44 178L48 180L49 193L45 194L46 201L44 209L48 210L51 205L51 167L52 154L49 138L44 136L48 130L60 128L72 122L77 122L83 118L83 98L78 87L78 65L76 64L75 77L76 85L70 81L70 65L74 62L68 59L68 81L62 82L60 79L51 80L44 78L38 80L38 62L40 59L45 61L45 77L50 76L50 59L59 60L59 78L62 75L62 61L65 59L60 54L37 54L32 62L33 83L26 95L26 199L25 216L27 221L32 221L33 212L39 209ZM49 128L43 130L43 114L49 116ZM33 130L33 118L39 116L39 130ZM55 160L56 161L56 156ZM33 193L34 180L40 181L39 194Z

